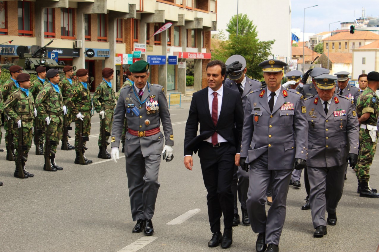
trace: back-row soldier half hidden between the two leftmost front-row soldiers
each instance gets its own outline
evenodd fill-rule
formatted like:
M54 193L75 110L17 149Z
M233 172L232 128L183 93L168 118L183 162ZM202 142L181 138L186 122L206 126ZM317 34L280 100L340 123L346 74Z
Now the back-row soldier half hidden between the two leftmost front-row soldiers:
M41 91L45 85L46 68L44 66L38 66L36 68L36 73L37 73L37 79L35 79L30 84L30 88L29 88L29 92L33 94L34 101L36 100L39 91ZM36 124L37 124L37 127L36 127ZM43 125L44 125L44 121L43 120L41 121L39 117L36 117L35 120L33 121L34 143L36 144L36 148L39 149L39 155L44 155L43 139L45 138L45 130L44 130ZM42 130L42 134L39 136L39 138L42 139L41 142L39 142L38 139L35 138L37 129Z

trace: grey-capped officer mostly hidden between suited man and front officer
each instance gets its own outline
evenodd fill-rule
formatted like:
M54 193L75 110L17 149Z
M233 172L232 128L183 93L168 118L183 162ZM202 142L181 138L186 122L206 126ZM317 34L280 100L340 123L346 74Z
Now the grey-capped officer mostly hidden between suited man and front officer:
M258 80L250 79L246 76L246 60L241 55L230 56L226 60L227 70L230 69L230 66L233 63L240 63L241 69L238 71L227 71L229 79L226 79L224 82L225 87L232 88L233 90L239 91L242 99L242 106L245 109L247 95L258 88L261 88L262 85ZM234 64L236 65L236 64ZM236 166L236 172L233 175L232 181L232 192L234 195L234 218L233 226L237 226L240 223L240 216L238 215L237 207L237 192L238 199L241 203L241 213L242 213L242 224L249 225L249 216L247 215L246 209L246 199L247 199L247 189L249 188L249 174L241 169L240 166Z

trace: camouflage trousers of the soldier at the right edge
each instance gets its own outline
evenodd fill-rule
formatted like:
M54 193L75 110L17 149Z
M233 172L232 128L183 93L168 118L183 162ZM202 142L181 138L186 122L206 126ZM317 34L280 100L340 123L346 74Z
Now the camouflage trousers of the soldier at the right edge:
M378 134L376 134L377 136ZM373 162L376 142L371 140L368 130L360 128L359 129L359 144L360 150L358 154L358 163L354 168L357 178L361 182L366 182L370 179L370 165Z

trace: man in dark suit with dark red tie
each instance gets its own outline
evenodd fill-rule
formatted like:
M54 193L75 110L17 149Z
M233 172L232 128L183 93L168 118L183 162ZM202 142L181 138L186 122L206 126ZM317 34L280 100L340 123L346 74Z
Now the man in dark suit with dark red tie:
M207 64L208 87L193 94L184 138L184 165L193 167L193 153L199 151L200 165L207 189L208 217L213 233L209 247L221 242L232 244L234 167L239 165L243 127L243 108L239 92L224 88L225 64L219 60ZM200 123L200 135L197 129ZM235 134L235 129L238 134ZM236 139L235 135L238 135ZM220 232L224 215L224 235Z

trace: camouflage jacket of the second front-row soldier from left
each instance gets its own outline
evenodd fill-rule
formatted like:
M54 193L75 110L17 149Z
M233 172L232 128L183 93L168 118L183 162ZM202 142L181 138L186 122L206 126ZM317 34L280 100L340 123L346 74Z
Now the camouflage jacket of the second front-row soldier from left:
M53 122L63 122L63 97L61 92L55 91L51 83L47 82L38 93L36 107L41 120L49 115Z

